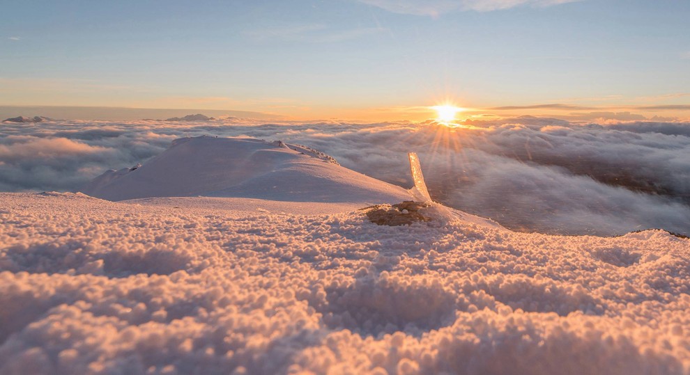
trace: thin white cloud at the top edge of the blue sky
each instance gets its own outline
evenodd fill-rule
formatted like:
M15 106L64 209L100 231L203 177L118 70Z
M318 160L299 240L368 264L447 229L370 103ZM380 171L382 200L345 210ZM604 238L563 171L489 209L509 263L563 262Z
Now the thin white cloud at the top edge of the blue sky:
M553 6L562 3L572 3L579 0L358 0L370 6L376 6L392 13L409 15L426 15L436 17L444 13L457 10L476 10L488 12L504 10L516 6Z

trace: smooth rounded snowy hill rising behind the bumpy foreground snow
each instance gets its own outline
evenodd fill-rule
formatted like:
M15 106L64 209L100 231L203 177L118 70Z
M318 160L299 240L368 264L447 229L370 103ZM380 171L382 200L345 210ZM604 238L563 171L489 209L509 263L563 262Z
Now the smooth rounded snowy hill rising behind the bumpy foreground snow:
M405 162L405 161L401 161ZM181 138L139 168L110 170L81 190L107 200L213 196L293 202L400 202L405 189L300 145L250 138Z

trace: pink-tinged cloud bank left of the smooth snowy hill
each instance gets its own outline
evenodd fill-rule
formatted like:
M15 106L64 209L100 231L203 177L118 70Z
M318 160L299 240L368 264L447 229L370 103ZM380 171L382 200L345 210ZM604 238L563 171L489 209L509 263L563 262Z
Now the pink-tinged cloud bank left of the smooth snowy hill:
M176 138L127 127L75 124L3 124L0 191L72 190L108 168L153 157Z

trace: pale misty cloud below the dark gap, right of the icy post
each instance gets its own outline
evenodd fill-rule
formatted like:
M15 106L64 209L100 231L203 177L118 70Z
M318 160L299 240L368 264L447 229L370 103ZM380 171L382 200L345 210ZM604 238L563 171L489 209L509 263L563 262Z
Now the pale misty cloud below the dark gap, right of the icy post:
M690 228L690 211L681 202L602 184L558 166L481 154L468 161L464 164L472 168L472 179L446 192L447 204L491 216L509 228L567 234ZM528 214L526 221L516 212L535 215Z

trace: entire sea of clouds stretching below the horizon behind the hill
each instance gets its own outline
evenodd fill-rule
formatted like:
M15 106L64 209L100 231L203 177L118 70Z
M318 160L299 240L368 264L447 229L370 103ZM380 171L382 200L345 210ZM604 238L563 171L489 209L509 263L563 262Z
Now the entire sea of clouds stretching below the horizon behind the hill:
M690 123L548 118L436 122L86 122L0 126L0 191L77 191L183 136L250 136L314 147L342 166L411 186L420 154L432 197L508 228L557 234L690 234Z

